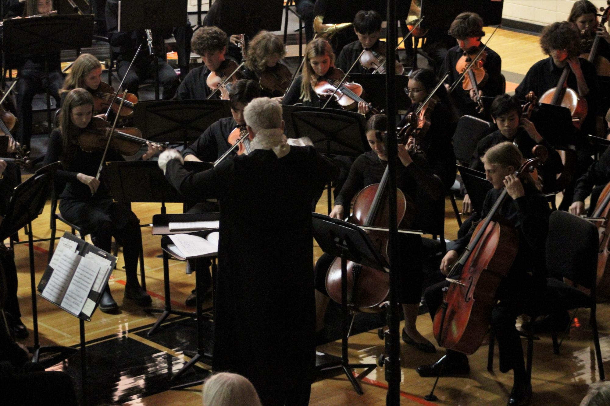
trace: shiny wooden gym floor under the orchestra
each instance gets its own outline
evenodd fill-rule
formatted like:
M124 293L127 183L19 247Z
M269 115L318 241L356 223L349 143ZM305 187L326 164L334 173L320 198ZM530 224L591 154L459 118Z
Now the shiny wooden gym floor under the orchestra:
M488 35L490 30L487 30ZM544 57L537 44L537 37L522 33L498 30L490 43L490 47L500 53L503 58L504 72L509 78L509 82L519 83L519 80L526 73L529 66ZM511 80L514 79L514 80ZM508 90L511 90L509 84ZM514 86L512 87L514 89ZM461 207L461 202L458 201ZM160 205L155 203L136 203L132 206L134 212L140 218L142 224L150 223L152 215L159 213ZM457 233L457 223L451 210L449 201L446 202L445 213L445 237L454 239ZM168 213L181 212L182 205L168 205ZM326 194L318 203L318 212L326 212ZM34 238L49 237L49 205L43 214L33 223ZM65 225L58 223L58 236L63 231L69 231ZM153 297L152 307L163 306L163 274L162 260L156 255L160 253L160 238L151 236L150 228L142 229L147 289ZM21 233L21 239L24 239ZM315 245L315 242L314 242ZM36 280L39 281L47 263L48 242L35 243L35 267L37 270ZM320 250L316 247L313 263L320 255ZM110 289L113 292L117 303L123 305L123 287L125 281L124 270L122 268L122 256L119 255L117 270L113 272L110 281ZM19 273L19 300L23 322L30 330L30 337L23 340L23 343L32 343L32 310L30 302L30 283L29 283L29 262L27 244L15 246L15 262ZM178 261L170 261L171 275L171 298L173 306L180 310L187 309L184 300L190 290L194 287L195 279L193 276L185 275L184 264ZM561 354L554 355L549 335L542 334L541 340L534 343L534 363L532 373L532 383L534 397L533 405L575 405L580 402L587 391L589 383L598 380L597 365L595 365L594 349L591 341L591 332L588 323L589 312L580 310L572 324L569 335L565 337L561 347ZM601 304L598 307L598 324L600 331L601 351L604 355L606 371L610 371L608 354L610 351L610 306ZM143 326L154 323L156 315L148 315L142 308L131 303L121 306L120 313L107 315L96 311L90 323L85 323L87 341L110 340L112 337L128 337L141 343L148 348L154 349L151 353L168 354L174 358L174 372L181 367L181 363L188 360L188 357L176 351L176 346L161 345L158 342L149 340L138 335L138 331ZM44 299L38 298L38 324L40 329L41 343L73 346L79 343L79 323L76 318L63 312L56 306L48 303ZM434 343L432 337L431 320L427 314L418 318L418 329L425 337ZM91 343L91 347L98 343ZM334 341L318 347L318 351L328 352L329 354L340 355L340 341ZM375 330L354 335L350 338L350 360L351 362L375 362L376 358L383 351L383 343L377 337ZM429 392L434 382L430 378L421 378L415 373L415 368L423 363L435 362L442 351L439 349L436 354L424 354L414 350L411 346L402 345L401 347L402 365L402 384L401 400L404 405L433 405L427 402L423 396ZM93 351L88 351L94 354ZM479 351L470 356L471 373L465 377L448 377L439 382L436 394L439 401L436 404L442 405L504 405L508 400L508 395L512 387L512 374L501 374L496 364L493 373L486 369L487 345L483 345ZM210 369L209 365L201 364L203 368ZM98 360L90 360L89 376L95 375L95 368L101 368ZM357 371L360 372L360 371ZM123 371L116 371L117 374ZM115 385L111 388L117 393L114 397L115 402L125 399L120 396L121 391L129 388L129 385L146 385L146 374L140 376L132 375L130 379L123 380L121 375L115 380ZM122 383L121 383L122 382ZM109 383L110 384L110 383ZM386 396L386 381L384 371L377 368L363 382L364 395L358 396L351 388L350 383L342 375L318 380L312 386L311 405L384 405ZM103 385L103 383L102 383ZM99 389L99 388L98 388ZM94 391L90 385L90 391ZM201 404L201 385L181 391L162 391L152 396L129 398L129 405L200 405Z

